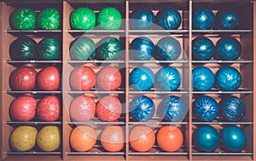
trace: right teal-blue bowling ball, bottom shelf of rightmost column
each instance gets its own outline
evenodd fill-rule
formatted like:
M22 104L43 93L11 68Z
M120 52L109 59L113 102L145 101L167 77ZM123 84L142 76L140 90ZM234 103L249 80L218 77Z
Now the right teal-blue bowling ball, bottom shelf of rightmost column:
M237 126L225 127L221 132L224 150L228 152L241 152L247 144L247 135Z

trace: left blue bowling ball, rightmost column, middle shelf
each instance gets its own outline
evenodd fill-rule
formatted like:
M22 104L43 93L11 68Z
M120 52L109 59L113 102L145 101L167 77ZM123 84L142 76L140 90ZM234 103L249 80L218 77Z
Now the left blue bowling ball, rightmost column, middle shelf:
M195 90L209 90L214 85L215 77L206 66L197 66L192 70L192 81Z

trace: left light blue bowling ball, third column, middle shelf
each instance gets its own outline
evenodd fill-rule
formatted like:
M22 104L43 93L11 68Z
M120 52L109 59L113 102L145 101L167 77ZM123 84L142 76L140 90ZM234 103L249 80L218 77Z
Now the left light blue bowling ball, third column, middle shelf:
M137 90L149 90L154 85L154 73L146 66L138 66L130 73L130 85Z

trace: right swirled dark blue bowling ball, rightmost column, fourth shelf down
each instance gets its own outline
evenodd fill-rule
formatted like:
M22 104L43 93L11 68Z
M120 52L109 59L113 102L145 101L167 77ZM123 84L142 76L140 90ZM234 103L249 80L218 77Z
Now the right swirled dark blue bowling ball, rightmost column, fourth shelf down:
M229 96L220 101L222 116L229 121L240 121L246 112L246 106L240 98Z

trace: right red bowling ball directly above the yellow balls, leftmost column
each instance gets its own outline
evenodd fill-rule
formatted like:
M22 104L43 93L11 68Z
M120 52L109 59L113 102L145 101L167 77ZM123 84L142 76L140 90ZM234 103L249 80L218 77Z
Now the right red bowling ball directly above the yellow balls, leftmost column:
M42 121L56 121L60 118L61 103L58 97L54 95L45 96L38 103L37 114Z

